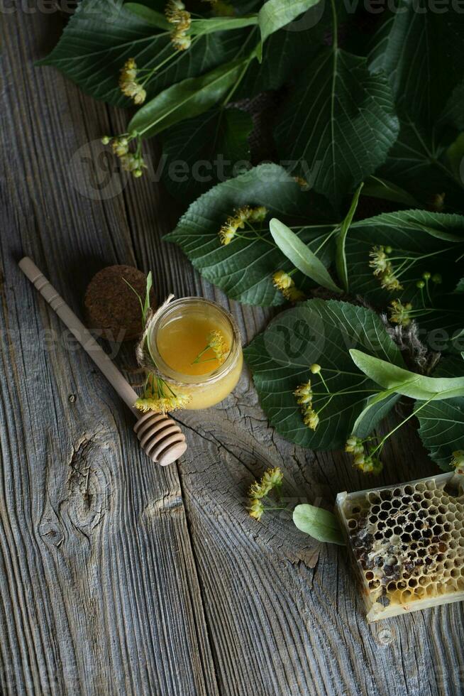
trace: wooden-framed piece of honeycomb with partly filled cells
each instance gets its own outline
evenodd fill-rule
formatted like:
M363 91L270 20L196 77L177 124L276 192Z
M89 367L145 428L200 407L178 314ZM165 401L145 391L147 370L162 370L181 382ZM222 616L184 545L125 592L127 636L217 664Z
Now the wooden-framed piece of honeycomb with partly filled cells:
M339 493L368 621L464 599L464 474Z

